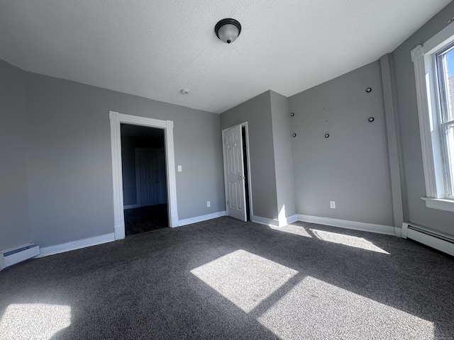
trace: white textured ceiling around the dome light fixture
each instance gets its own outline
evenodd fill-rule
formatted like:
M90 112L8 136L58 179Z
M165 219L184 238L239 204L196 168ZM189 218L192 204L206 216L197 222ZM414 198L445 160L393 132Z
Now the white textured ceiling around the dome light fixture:
M0 59L221 113L392 52L450 0L0 0ZM236 18L231 45L214 26ZM186 96L181 89L189 89Z

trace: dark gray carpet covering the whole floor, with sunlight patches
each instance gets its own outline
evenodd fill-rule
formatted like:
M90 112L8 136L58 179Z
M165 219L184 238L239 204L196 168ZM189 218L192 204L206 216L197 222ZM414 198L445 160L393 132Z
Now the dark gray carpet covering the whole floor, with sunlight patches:
M231 217L0 272L0 339L454 339L454 259Z

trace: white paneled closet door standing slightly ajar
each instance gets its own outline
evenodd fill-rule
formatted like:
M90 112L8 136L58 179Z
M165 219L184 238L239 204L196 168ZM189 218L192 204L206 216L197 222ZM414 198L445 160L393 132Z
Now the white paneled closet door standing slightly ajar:
M223 131L227 215L247 221L241 125Z

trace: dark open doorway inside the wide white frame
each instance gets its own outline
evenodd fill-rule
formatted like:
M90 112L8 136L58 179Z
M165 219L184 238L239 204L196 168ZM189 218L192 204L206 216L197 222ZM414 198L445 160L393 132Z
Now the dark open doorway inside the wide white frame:
M169 227L165 132L121 124L126 236Z

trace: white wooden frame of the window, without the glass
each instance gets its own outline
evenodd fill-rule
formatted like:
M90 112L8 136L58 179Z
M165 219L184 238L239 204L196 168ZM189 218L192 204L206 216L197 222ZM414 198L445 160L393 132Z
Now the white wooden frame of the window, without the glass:
M454 23L446 26L431 39L411 50L416 78L419 132L423 154L424 181L428 208L454 212L454 200L448 198L445 187L445 164L440 136L440 96L436 54L454 42Z

